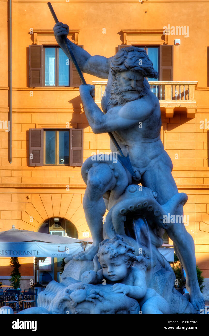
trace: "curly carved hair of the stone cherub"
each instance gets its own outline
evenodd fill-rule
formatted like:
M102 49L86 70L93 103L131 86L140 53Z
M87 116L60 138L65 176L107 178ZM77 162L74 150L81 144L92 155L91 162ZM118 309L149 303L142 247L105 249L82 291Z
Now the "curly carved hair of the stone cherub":
M115 258L119 255L123 255L125 261L136 259L134 255L135 249L126 243L123 238L115 236L113 239L105 239L99 244L99 252L97 253L98 260L100 255L108 254L109 259Z

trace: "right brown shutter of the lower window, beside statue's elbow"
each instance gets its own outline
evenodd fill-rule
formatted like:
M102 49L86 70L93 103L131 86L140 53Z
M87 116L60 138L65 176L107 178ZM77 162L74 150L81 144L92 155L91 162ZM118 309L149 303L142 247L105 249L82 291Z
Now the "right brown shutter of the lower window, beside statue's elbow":
M70 166L83 164L83 129L70 129Z

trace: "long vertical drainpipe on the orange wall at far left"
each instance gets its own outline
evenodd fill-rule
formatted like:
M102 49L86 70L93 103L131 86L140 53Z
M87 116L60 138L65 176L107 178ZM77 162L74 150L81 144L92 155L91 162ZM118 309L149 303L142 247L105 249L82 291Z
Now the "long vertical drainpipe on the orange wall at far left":
M11 0L9 0L9 163L12 163L12 19ZM9 126L9 125L8 125Z

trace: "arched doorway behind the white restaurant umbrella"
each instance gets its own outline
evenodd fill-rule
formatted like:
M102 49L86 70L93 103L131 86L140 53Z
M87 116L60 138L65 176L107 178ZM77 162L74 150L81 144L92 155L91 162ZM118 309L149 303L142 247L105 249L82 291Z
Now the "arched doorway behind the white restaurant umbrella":
M61 217L53 217L45 220L38 232L56 236L68 236L78 238L78 232L69 220ZM44 286L51 280L60 281L60 272L63 258L39 258L39 282Z

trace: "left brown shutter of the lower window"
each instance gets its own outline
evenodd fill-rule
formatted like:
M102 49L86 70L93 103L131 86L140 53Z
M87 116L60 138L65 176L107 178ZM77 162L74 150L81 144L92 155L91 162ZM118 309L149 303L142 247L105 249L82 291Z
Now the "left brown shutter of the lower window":
M43 128L29 129L29 166L43 166Z

